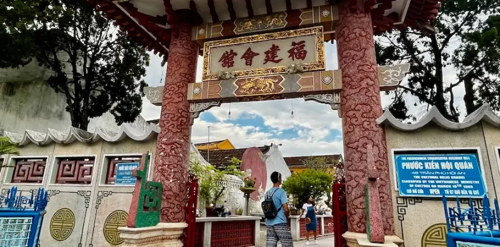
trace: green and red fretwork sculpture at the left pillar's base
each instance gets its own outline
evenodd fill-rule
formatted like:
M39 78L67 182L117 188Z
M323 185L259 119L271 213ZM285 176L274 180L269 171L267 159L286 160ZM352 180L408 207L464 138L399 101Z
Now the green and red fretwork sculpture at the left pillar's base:
M142 154L140 166L132 172L137 177L127 218L128 227L156 226L162 208L162 183L147 181L149 155Z

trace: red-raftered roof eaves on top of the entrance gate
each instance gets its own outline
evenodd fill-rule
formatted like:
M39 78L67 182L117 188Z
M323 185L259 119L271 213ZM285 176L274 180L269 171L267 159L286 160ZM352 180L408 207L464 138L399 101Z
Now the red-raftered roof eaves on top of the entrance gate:
M350 0L356 5L356 0ZM176 25L176 11L189 10L203 23L232 22L255 17L335 5L338 0L87 0L115 25L148 50L167 61L171 27ZM365 9L372 12L374 31L379 33L397 26L434 31L442 0L370 0ZM312 15L312 14L311 14ZM318 15L312 18L318 18ZM201 23L199 23L201 24ZM199 25L195 24L195 25ZM227 29L227 27L223 27Z

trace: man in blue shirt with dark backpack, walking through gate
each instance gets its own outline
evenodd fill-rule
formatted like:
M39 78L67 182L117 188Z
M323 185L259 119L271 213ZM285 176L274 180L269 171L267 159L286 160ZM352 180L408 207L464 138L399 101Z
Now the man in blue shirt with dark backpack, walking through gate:
M266 247L276 247L278 241L281 242L282 247L293 247L290 228L286 224L287 218L290 215L287 204L288 198L285 191L279 188L281 185L281 173L277 171L271 173L271 181L273 182L273 188L266 192L265 197L273 197L277 214L272 219L266 219Z

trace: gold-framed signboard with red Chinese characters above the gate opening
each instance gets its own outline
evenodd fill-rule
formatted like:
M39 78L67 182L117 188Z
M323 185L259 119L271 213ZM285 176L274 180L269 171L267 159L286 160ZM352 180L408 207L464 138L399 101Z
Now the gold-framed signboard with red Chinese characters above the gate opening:
M325 69L323 27L205 43L203 81Z

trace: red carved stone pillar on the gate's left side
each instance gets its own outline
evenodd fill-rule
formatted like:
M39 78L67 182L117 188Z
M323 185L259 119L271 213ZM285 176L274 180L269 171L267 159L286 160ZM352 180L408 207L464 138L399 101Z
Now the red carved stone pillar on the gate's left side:
M187 84L195 80L199 50L191 24L175 25L169 50L153 179L163 184L161 222L184 222L191 143Z

